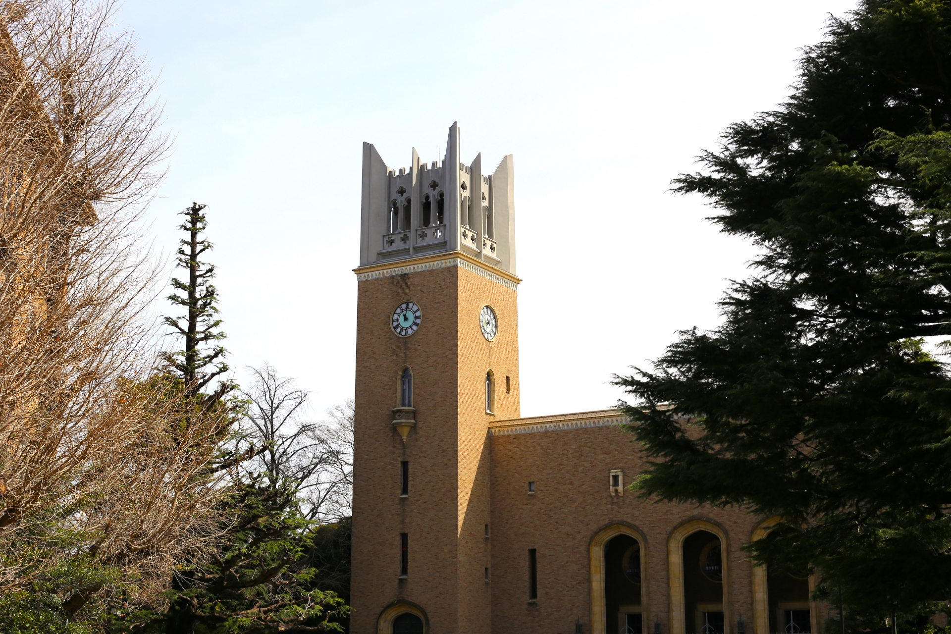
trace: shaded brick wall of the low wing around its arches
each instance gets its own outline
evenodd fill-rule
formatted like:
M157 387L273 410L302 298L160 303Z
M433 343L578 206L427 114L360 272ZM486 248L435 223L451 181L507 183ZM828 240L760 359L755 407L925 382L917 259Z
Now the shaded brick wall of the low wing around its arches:
M614 427L492 437L493 631L497 634L572 634L575 619L591 632L589 545L613 522L627 522L647 538L650 614L670 633L667 542L691 517L708 517L728 533L732 621L738 614L752 632L750 565L738 549L755 520L737 509L647 504L630 491L611 497L608 474L624 470L626 484L639 471L631 435ZM536 492L528 493L534 481ZM528 549L538 551L538 602L528 602Z

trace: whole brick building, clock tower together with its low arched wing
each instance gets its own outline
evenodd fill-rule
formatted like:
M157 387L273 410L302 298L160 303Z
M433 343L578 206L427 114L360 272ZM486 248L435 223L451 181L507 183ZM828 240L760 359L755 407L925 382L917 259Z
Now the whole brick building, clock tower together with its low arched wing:
M355 634L818 632L812 582L740 547L774 518L650 504L613 410L521 418L514 162L363 145Z

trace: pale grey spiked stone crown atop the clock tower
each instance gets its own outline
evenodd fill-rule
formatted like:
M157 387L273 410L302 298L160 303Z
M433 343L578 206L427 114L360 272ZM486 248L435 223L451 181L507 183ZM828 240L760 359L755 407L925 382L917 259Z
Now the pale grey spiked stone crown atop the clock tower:
M360 258L382 261L461 251L515 274L513 156L489 175L482 155L459 161L459 127L449 128L442 163L390 168L373 144L363 144Z

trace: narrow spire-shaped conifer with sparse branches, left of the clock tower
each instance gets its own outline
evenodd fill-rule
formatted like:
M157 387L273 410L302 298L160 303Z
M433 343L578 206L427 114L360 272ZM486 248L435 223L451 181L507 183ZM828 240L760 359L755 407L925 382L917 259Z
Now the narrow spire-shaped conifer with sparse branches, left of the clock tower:
M199 259L212 249L211 242L201 237L208 226L202 213L205 206L192 202L182 212L187 221L179 228L187 232L188 237L179 240L178 266L188 272L188 278L185 281L172 279L172 286L182 295L173 293L168 300L184 307L186 313L181 317L165 317L165 323L175 329L175 334L184 337L184 350L167 353L165 360L184 381L184 392L188 396L201 394L212 380L228 371L223 359L226 351L218 343L226 336L219 330L222 320L216 306L218 291L210 283L215 277L215 265ZM210 345L210 349L206 345ZM220 381L217 389L206 395L204 403L214 403L234 388L230 381Z

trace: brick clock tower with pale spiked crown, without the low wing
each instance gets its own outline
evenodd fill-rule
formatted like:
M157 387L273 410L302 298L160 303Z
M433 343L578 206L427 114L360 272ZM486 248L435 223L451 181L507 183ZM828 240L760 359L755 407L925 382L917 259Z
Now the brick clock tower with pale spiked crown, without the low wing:
M355 634L491 623L488 428L519 416L513 157L387 167L363 144Z

